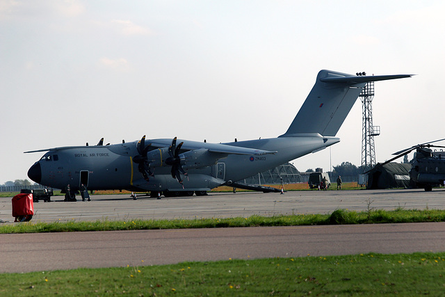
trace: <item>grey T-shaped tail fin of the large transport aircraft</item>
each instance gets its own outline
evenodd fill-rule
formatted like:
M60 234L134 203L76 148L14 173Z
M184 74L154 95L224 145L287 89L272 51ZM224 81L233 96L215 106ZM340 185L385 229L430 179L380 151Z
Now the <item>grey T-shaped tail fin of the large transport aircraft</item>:
M357 76L321 70L291 126L280 137L302 136L302 134L335 136L366 83L411 76L411 74Z

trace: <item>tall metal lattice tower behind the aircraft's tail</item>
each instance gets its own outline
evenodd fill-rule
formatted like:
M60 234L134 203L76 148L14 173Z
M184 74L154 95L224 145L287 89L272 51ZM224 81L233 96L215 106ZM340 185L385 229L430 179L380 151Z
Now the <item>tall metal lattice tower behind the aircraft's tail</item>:
M375 165L374 136L380 135L380 126L373 126L373 81L366 83L359 97L362 100L362 169L366 172Z

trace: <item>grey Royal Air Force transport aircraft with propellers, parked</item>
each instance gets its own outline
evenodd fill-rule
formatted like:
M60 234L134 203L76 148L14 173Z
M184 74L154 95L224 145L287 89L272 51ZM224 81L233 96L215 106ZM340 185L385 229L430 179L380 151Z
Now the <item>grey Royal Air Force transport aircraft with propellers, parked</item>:
M277 138L233 143L145 139L131 143L54 147L28 171L34 182L70 191L126 189L153 196L186 192L202 195L221 185L280 166L338 143L334 136L369 81L410 74L361 76L321 70L296 118ZM70 185L70 186L68 186Z

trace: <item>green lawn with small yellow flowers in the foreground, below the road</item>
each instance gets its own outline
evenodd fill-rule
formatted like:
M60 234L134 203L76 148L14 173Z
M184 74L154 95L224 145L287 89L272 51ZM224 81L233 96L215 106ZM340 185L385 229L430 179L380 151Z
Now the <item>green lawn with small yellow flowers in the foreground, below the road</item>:
M442 296L445 253L3 273L1 296Z

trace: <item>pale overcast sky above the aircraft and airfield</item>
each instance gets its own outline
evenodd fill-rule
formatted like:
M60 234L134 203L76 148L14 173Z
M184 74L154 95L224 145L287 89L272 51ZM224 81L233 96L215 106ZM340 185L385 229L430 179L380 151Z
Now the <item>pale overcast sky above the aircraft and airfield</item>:
M279 136L321 69L417 74L375 83L377 161L445 138L444 13L445 1L0 0L0 184L28 178L42 153L25 151L102 137ZM359 99L337 137L292 163L360 166Z

